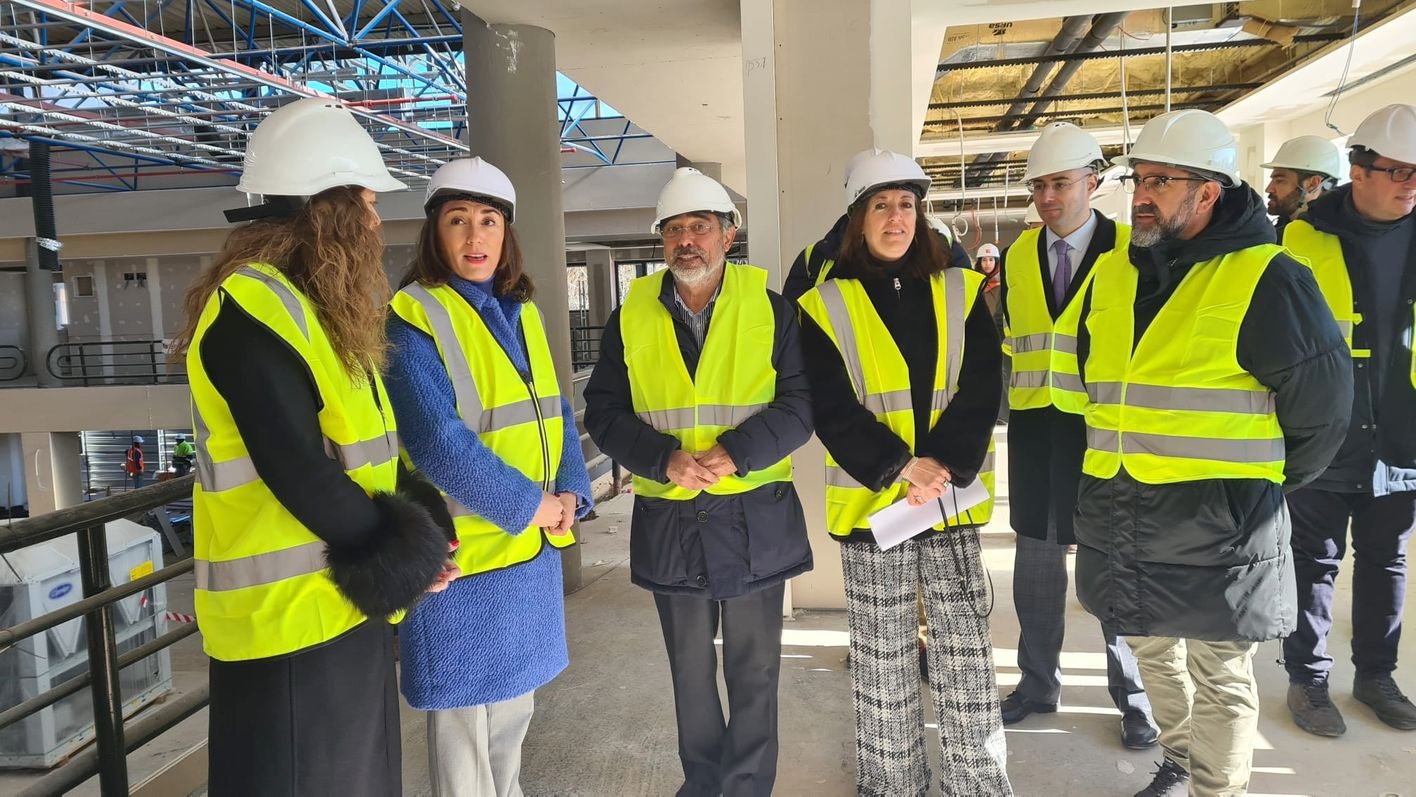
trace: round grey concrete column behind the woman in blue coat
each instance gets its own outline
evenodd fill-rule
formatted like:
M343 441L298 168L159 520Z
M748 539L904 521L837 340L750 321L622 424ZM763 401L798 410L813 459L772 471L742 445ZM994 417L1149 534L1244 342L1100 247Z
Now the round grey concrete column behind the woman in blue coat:
M535 280L561 392L571 395L571 309L565 282L561 142L555 117L555 34L487 24L466 8L467 143L517 188L517 239ZM562 552L565 589L581 586L581 548Z

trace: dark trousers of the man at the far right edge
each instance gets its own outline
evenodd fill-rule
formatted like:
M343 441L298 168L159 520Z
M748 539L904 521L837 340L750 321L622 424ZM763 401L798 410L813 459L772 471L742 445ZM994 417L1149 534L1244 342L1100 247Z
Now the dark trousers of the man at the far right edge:
M1359 493L1298 490L1289 494L1298 626L1283 640L1296 682L1325 681L1332 668L1332 582L1352 527L1352 664L1364 677L1396 670L1406 600L1406 542L1416 528L1416 493L1379 498Z

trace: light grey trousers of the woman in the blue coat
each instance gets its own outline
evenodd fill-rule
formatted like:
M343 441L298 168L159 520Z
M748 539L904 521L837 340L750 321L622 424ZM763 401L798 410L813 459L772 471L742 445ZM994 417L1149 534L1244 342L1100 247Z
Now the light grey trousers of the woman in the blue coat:
M498 704L428 712L433 797L521 797L521 743L535 692Z

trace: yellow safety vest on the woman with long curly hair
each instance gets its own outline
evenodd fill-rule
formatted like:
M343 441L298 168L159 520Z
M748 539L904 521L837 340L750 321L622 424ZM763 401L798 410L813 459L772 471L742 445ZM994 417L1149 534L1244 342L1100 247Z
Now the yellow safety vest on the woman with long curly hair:
M398 433L378 375L350 378L314 309L279 269L242 266L207 300L187 350L197 443L197 623L208 655L244 661L327 643L365 617L329 578L324 542L261 480L231 409L207 377L201 341L224 302L239 304L304 361L320 398L326 449L371 495L396 487Z

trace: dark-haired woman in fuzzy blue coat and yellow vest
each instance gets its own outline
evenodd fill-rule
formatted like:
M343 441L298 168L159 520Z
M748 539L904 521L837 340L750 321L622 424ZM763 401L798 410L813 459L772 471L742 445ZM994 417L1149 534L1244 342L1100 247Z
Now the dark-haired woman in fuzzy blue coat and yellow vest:
M590 508L515 204L481 159L439 168L388 321L399 436L445 495L466 576L399 630L404 696L428 712L435 797L521 794L532 695L568 664L558 549Z

